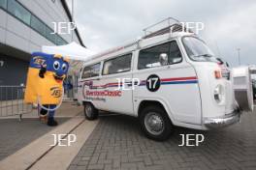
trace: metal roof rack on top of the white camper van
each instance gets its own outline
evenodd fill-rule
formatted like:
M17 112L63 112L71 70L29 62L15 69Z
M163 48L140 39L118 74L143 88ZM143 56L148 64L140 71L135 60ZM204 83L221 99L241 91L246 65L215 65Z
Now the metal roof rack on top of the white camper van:
M184 24L179 22L174 17L168 17L163 19L155 24L152 24L144 28L144 37L143 39L152 38L155 36L160 36L164 34L172 34L174 32L190 32L193 33L190 29L187 29Z

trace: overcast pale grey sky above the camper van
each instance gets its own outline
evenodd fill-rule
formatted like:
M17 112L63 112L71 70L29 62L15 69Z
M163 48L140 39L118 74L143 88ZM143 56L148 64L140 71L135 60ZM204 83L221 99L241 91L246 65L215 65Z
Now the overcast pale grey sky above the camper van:
M67 0L71 4L71 0ZM213 52L238 66L256 64L255 0L74 0L75 21L94 51L134 40L143 29L169 16L203 22L200 36Z

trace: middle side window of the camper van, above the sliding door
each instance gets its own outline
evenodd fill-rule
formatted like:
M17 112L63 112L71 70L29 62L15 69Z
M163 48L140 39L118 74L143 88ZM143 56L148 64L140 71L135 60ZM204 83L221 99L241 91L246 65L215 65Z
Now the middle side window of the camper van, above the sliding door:
M103 75L131 71L132 54L119 56L104 62Z

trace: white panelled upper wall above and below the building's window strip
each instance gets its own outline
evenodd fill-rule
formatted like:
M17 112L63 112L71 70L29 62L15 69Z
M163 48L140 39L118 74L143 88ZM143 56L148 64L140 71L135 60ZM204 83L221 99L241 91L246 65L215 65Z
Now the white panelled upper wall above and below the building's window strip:
M19 0L19 2L52 29L53 21L69 21L60 0L55 0L55 3L51 0ZM71 42L71 35L61 35L61 37ZM74 41L79 42L76 34ZM55 45L2 9L0 9L0 42L27 53L41 50L42 45Z

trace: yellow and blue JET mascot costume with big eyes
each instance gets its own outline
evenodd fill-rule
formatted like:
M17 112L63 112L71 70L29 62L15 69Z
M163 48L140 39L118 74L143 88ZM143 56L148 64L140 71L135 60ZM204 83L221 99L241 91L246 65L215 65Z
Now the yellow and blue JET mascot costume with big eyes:
M25 97L26 103L38 103L41 118L47 117L48 126L57 126L54 112L60 106L63 97L63 80L69 70L69 61L61 55L32 53L30 60Z

